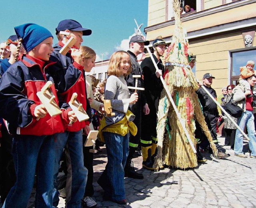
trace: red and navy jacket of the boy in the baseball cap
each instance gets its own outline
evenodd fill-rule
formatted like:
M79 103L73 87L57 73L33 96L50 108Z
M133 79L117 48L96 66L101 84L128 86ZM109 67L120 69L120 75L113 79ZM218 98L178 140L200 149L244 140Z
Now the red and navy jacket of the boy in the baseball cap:
M77 93L77 100L82 103L84 110L91 118L92 112L90 103L86 96L86 84L83 66L74 62L70 52L66 55L61 55L59 51L62 49L64 44L59 42L54 46L54 51L50 56L50 60L56 62L51 67L51 74L53 75L58 90L58 99L62 104L62 109L67 109L69 106L66 105L73 95ZM64 121L64 130L76 132L89 125L90 121L76 121L72 125L68 125L69 121Z

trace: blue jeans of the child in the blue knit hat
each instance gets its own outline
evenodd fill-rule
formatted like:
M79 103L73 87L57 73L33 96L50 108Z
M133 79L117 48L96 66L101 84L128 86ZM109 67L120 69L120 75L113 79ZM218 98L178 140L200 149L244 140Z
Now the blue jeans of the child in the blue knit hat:
M52 208L54 138L17 135L12 142L16 183L3 208L26 208L36 177L35 208ZM36 171L37 170L37 171Z

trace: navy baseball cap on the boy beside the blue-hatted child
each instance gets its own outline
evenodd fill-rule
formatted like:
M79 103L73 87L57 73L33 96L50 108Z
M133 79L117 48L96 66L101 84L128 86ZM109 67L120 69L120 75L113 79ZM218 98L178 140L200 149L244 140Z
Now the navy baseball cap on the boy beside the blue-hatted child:
M58 24L55 30L56 30L56 35L60 31L65 31L65 30L82 31L83 36L90 36L90 34L92 34L92 30L83 28L82 25L76 20L69 20L69 19L60 21L60 23Z

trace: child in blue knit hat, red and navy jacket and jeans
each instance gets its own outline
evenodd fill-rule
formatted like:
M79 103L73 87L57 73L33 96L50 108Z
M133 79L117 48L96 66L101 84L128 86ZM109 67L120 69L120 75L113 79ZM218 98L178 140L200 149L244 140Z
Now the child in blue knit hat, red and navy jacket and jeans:
M51 117L36 92L47 81L53 81L48 73L54 63L49 61L52 34L36 24L23 24L14 28L17 38L17 54L21 44L26 55L12 64L0 81L0 115L6 120L13 135L12 155L16 170L16 183L11 188L4 208L26 208L36 180L36 207L52 208L52 184L54 174L54 134L64 131L60 115ZM58 104L54 85L50 87ZM66 120L76 121L73 112Z

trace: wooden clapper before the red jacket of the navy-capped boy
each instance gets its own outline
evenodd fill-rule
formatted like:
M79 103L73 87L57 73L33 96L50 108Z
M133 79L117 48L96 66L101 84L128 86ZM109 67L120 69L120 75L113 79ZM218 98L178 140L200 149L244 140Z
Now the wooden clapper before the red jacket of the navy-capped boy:
M72 108L72 110L74 111L78 121L86 121L89 119L89 116L87 115L86 111L84 110L84 108L82 107L82 103L80 103L78 101L77 98L77 93L73 93L70 101L68 102L68 105L70 105L70 107ZM70 121L69 123L70 125L72 124L72 121Z

